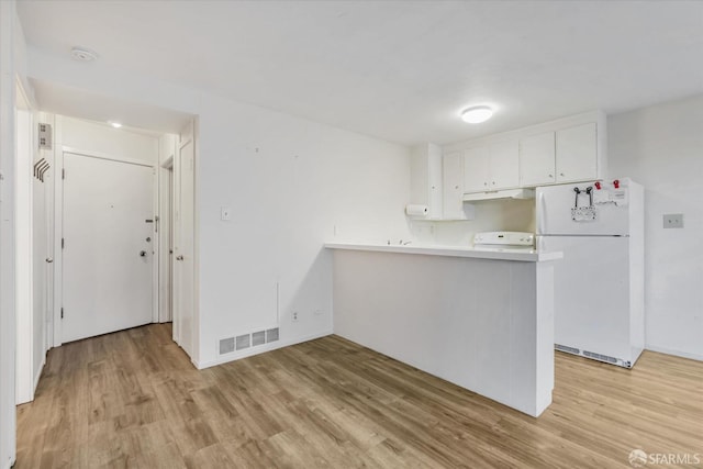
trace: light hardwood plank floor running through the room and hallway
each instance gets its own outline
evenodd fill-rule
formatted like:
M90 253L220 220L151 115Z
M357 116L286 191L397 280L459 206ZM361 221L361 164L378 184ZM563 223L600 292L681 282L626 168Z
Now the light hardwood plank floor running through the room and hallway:
M625 370L557 354L554 403L532 418L338 336L198 371L170 331L51 350L19 407L15 468L629 468L635 448L703 459L703 362L647 351Z

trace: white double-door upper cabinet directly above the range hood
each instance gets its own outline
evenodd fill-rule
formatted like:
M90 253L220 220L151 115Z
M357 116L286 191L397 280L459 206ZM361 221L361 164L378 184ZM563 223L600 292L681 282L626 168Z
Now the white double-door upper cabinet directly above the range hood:
M464 192L515 188L520 183L517 141L495 142L464 154Z

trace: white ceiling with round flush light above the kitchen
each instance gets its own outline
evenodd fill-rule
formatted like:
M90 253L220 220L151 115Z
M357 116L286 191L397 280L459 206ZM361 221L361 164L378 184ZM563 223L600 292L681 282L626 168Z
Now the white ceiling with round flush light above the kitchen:
M43 52L89 47L110 67L403 144L703 92L701 1L52 0L18 10ZM36 86L55 112L72 101ZM461 122L471 104L493 105L494 118Z

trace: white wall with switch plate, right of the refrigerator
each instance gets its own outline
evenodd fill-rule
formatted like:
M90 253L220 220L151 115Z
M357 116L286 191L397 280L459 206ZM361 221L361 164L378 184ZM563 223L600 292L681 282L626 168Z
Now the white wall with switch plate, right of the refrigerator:
M611 176L645 187L646 348L703 359L703 94L607 122Z

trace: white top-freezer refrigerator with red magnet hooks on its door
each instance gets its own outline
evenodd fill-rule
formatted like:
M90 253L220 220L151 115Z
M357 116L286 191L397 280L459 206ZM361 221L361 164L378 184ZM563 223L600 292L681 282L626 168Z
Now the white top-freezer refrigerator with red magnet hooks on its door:
M589 189L590 188L590 189ZM644 189L628 178L537 188L555 263L555 347L632 368L645 345Z

